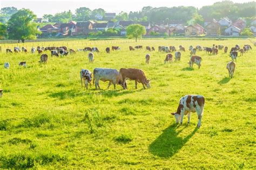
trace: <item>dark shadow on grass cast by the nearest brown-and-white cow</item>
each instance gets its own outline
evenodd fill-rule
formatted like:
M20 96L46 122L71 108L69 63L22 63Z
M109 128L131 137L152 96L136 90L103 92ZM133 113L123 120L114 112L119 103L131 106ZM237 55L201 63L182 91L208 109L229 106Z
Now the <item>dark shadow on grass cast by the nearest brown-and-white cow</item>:
M197 132L198 128L196 127L190 134L188 134L185 138L178 137L178 134L183 131L186 127L181 128L180 130L176 128L176 124L173 124L167 127L159 137L154 140L150 146L149 151L153 155L162 158L170 158L174 154L176 154L185 144L186 142L193 137L193 135Z

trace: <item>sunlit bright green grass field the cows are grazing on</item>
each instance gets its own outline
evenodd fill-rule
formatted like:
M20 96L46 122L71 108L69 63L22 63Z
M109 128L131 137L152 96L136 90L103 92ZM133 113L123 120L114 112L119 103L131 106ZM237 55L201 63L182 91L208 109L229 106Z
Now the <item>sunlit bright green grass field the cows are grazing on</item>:
M90 44L91 43L91 44ZM44 46L52 46L46 42ZM148 39L54 42L73 49L97 46L95 62L79 52L63 58L49 57L39 64L39 56L0 53L0 168L251 168L255 169L255 82L256 50L247 39L187 40ZM226 64L231 58L220 51L208 56L201 68L188 68L188 47L223 44L251 44L253 49L237 59L234 78L228 78ZM7 46L2 45L5 51ZM41 43L25 43L31 46ZM120 51L105 53L107 46ZM164 64L166 53L145 49L129 51L129 46L185 46L180 62ZM21 45L22 46L22 45ZM47 52L49 55L50 53ZM240 53L239 53L240 56ZM27 62L26 68L18 63ZM4 69L4 62L10 69ZM80 85L80 69L95 67L136 67L151 79L151 89L143 90L128 81L128 90L100 81L103 90ZM180 97L201 94L206 98L201 127L192 113L191 124L177 126L171 112Z

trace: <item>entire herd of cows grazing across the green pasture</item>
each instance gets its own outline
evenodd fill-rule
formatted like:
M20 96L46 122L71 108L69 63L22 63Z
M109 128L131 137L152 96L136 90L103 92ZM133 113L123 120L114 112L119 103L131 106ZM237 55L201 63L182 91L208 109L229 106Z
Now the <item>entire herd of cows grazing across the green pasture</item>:
M129 50L133 51L136 49L143 49L142 45L138 45L135 47L129 46ZM200 45L197 45L195 48L191 45L189 47L190 51L190 61L188 64L190 67L193 67L193 64L197 64L198 68L200 69L201 66L201 57L196 56L197 51L206 51L208 55L218 55L219 50L223 50L224 52L227 53L228 47L224 45L214 45L212 47L201 47ZM234 60L237 60L238 57L238 52L240 52L240 56L243 56L244 52L247 52L248 50L251 50L252 47L251 45L244 45L242 48L240 48L239 45L235 45L235 47L231 48L230 51L230 57L232 61L227 63L227 70L229 73L229 76L233 78L234 76L234 69L235 69L235 62ZM66 56L68 53L76 53L75 50L70 49L68 52L68 49L66 46L61 46L61 47L37 47L35 49L32 47L31 53L36 53L38 52L38 55L41 54L40 61L41 63L47 63L48 61L48 55L46 53L43 53L43 51L49 50L51 52L51 57L53 56ZM121 50L119 46L112 46L111 48L112 51L115 50ZM146 51L154 51L154 47L146 46ZM25 47L22 47L23 52L28 52L28 50L25 49ZM94 55L93 52L99 53L99 49L97 47L85 47L84 49L78 49L79 51L90 51L88 54L89 62L93 62L94 60ZM105 49L106 53L110 53L110 47L106 47ZM173 55L171 52L175 52L175 60L180 61L181 58L181 52L185 51L185 47L179 46L179 51L176 50L175 46L159 46L158 47L158 52L166 52L166 58L164 60L164 63L172 62ZM21 52L19 47L14 47L14 52L18 53ZM6 49L6 53L12 53L11 49ZM150 62L150 54L146 55L146 64L149 64ZM26 62L20 62L19 66L26 66ZM10 64L9 63L4 63L4 67L6 69L9 69ZM120 85L123 87L123 89L127 89L127 80L134 80L135 81L135 87L137 89L137 84L142 83L144 89L150 88L150 80L146 78L145 73L143 70L140 69L125 69L121 68L119 71L117 69L105 69L105 68L95 68L93 70L93 84L95 84L95 88L100 89L99 86L99 80L102 81L109 81L109 85L107 86L107 89L109 89L110 85L113 84L114 89L116 89L116 85ZM86 89L88 88L88 84L91 86L91 81L92 81L92 72L88 69L82 69L80 71L80 81L81 85L83 87L83 81ZM0 89L0 97L3 95L3 90ZM191 112L197 112L198 114L198 124L197 127L199 128L201 126L201 119L203 117L203 112L204 112L204 104L205 104L205 98L200 95L186 95L184 97L181 97L179 101L179 105L177 108L177 111L174 113L171 113L174 115L176 118L176 123L183 124L183 117L184 114L187 115L188 118L188 124L190 123L190 114Z

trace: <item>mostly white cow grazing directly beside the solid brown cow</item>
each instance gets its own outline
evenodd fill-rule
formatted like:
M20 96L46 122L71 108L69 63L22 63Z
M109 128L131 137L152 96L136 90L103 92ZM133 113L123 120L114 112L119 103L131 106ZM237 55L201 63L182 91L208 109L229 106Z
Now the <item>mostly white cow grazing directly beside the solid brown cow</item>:
M116 89L116 84L123 86L121 81L119 81L119 72L116 69L105 69L105 68L95 68L93 70L93 84L95 83L95 88L100 89L99 80L109 81L109 89L110 85L113 83L114 89Z

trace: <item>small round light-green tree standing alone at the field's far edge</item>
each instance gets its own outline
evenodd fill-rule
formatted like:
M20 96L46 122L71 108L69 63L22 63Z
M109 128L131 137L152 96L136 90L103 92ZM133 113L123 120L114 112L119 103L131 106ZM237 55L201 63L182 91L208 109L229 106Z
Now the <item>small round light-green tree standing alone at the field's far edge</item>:
M141 38L143 35L146 34L146 29L144 26L140 24L132 24L127 26L126 28L126 35L128 38L135 38L137 42L137 38Z

